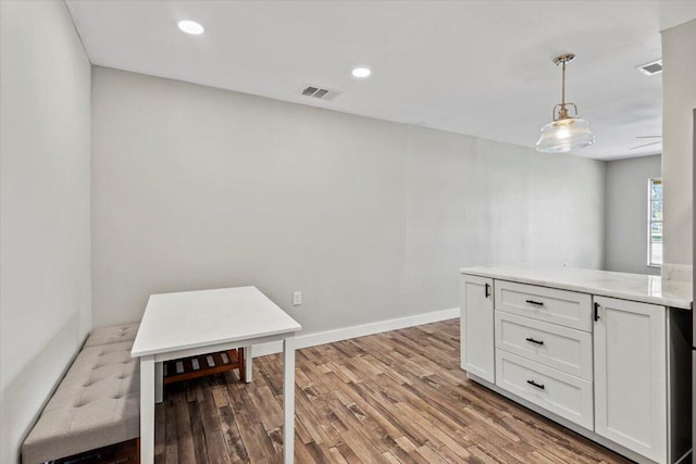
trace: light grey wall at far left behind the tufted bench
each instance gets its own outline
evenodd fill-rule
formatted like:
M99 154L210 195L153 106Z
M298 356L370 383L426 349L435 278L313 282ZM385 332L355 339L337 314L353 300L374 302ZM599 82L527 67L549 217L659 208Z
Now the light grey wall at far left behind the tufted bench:
M90 325L90 64L62 1L0 2L0 462Z

